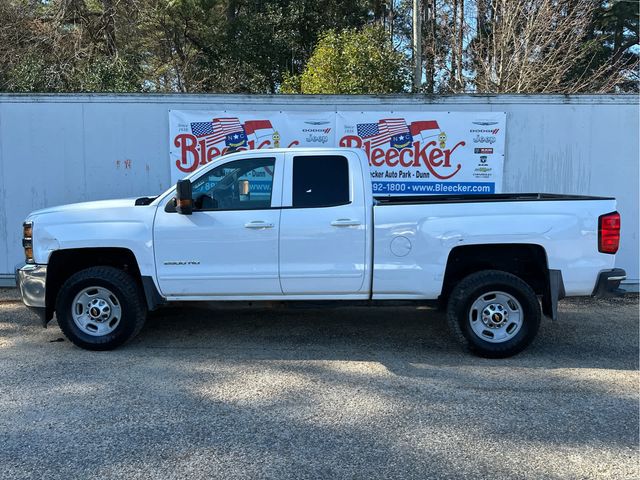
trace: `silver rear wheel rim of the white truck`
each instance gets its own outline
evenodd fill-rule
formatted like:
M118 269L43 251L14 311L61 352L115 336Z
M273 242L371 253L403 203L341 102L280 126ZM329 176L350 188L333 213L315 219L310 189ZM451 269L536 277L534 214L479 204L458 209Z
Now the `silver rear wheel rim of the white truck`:
M473 333L490 343L502 343L515 337L522 328L522 305L506 292L480 295L469 310L469 325Z

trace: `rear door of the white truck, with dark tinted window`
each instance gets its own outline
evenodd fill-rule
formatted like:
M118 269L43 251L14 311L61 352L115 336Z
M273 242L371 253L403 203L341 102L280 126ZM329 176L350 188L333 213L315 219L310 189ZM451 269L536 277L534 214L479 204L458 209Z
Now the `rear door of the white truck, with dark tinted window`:
M358 158L289 153L284 185L279 245L283 293L367 293L367 215Z

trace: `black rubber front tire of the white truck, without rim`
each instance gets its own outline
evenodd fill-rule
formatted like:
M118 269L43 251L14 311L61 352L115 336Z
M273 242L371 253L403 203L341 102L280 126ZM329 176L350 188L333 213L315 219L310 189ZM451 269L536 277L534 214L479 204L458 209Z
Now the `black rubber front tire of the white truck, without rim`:
M73 301L88 287L103 287L115 295L121 318L112 332L89 335L73 320ZM127 272L113 267L91 267L73 274L64 282L56 299L60 330L71 342L86 350L112 350L132 339L142 329L146 313L146 304L136 281Z

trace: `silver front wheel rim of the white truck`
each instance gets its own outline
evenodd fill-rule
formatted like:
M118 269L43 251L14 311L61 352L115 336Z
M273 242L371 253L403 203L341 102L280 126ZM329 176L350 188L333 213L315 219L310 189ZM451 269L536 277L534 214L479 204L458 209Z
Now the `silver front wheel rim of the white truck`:
M102 337L118 328L122 307L118 297L108 288L88 287L73 299L71 316L83 333Z

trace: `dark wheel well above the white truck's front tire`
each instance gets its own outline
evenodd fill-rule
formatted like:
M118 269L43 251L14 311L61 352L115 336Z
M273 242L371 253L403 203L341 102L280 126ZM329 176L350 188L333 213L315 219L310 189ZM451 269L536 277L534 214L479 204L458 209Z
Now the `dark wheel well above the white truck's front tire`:
M47 265L46 319L53 317L56 297L64 282L74 273L89 267L110 266L131 274L142 288L138 262L127 248L73 248L56 250Z

